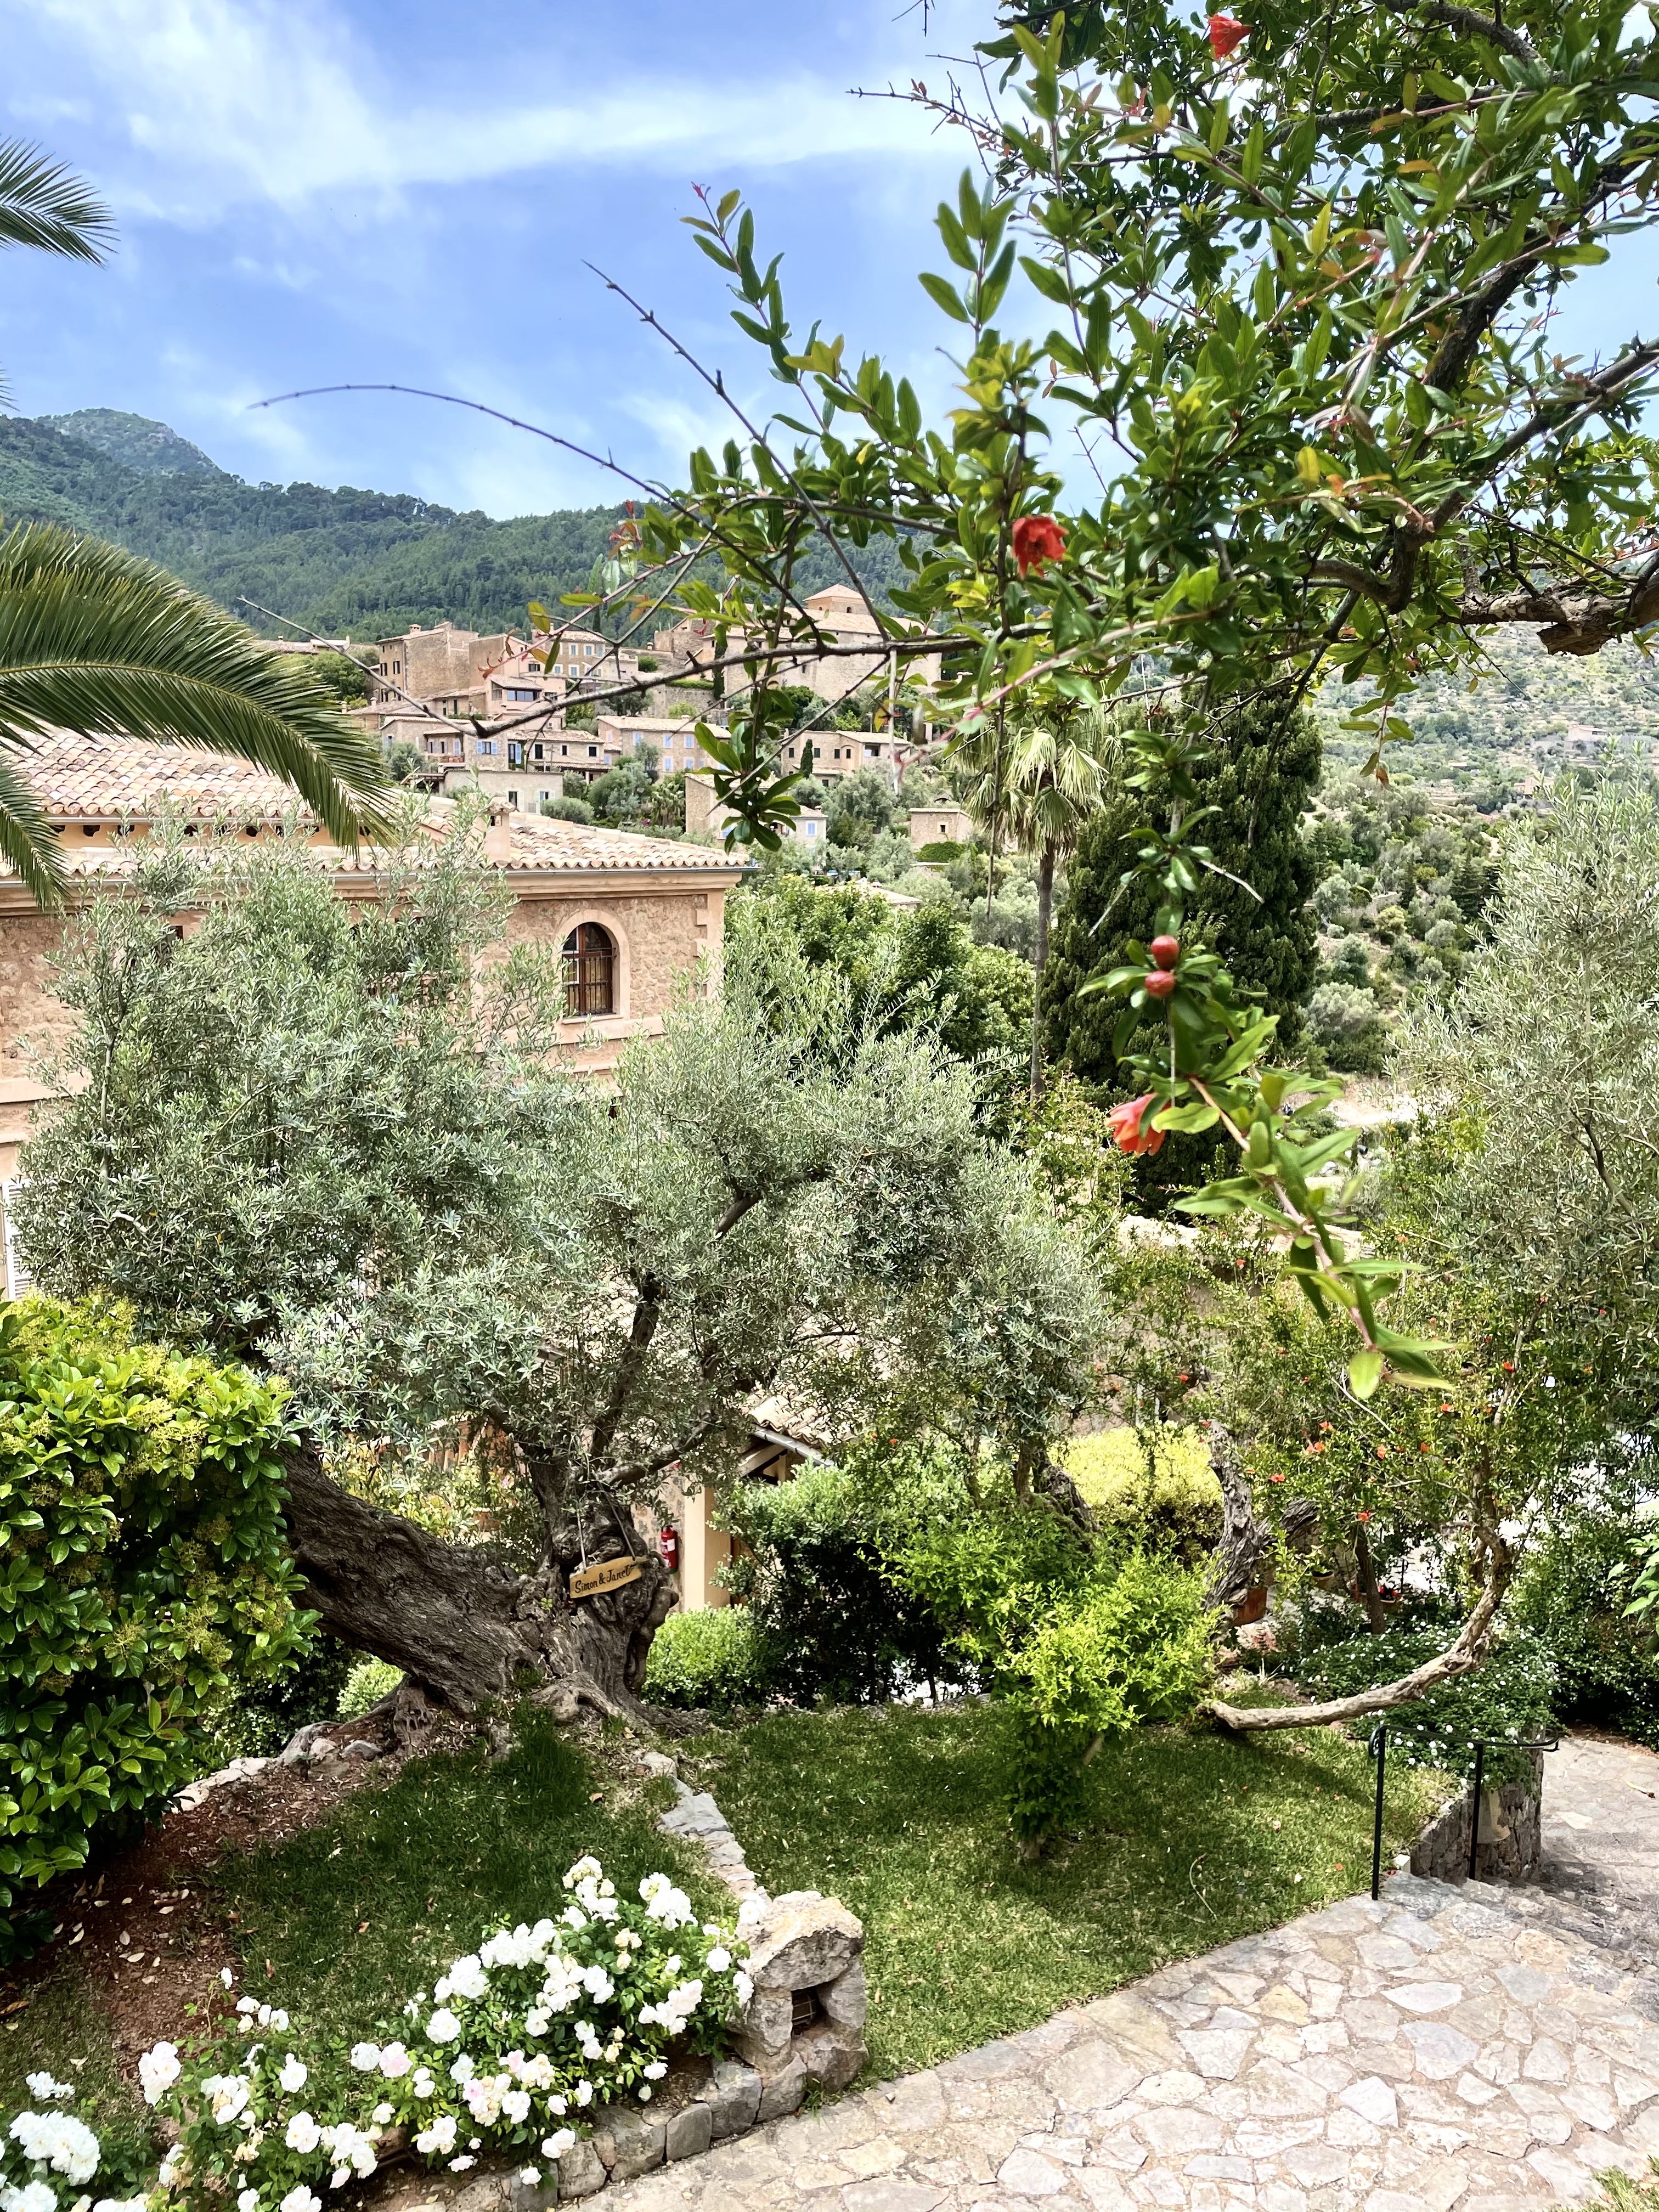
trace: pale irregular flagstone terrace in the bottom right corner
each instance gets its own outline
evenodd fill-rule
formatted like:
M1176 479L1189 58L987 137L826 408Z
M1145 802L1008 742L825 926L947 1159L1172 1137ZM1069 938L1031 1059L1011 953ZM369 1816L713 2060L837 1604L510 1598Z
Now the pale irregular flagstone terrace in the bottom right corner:
M1542 1880L1396 1876L613 2212L1548 2212L1659 2152L1659 1756L1546 1761Z

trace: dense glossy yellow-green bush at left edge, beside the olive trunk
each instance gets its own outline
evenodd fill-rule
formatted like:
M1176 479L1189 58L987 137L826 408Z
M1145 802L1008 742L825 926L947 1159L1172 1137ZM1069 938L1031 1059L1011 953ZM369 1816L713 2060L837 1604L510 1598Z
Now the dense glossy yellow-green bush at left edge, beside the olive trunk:
M283 1438L279 1383L0 1312L0 1905L197 1774L232 1683L290 1663Z

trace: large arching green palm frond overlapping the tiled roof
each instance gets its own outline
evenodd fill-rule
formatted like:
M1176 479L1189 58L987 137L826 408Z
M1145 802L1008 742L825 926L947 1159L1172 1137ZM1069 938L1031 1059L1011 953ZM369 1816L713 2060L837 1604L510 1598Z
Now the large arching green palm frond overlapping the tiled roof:
M49 730L250 761L341 845L392 827L380 748L312 677L150 562L31 522L0 538L0 745ZM46 830L42 878L49 852Z

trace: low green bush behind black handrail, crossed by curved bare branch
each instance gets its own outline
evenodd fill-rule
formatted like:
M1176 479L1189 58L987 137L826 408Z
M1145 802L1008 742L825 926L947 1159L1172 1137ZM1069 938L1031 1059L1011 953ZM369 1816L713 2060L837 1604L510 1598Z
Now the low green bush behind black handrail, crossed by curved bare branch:
M1389 1628L1380 1637L1349 1637L1316 1652L1303 1670L1303 1681L1316 1697L1354 1697L1376 1683L1396 1681L1411 1668L1447 1648L1440 1630ZM1486 1778L1524 1781L1531 1759L1504 1752L1504 1743L1524 1743L1555 1734L1551 1710L1555 1668L1548 1646L1526 1630L1498 1644L1486 1661L1467 1674L1431 1690L1411 1705L1385 1714L1389 1736L1405 1739L1407 1763L1440 1767L1464 1781L1475 1772L1475 1739L1484 1739ZM1371 1721L1356 1721L1356 1734L1369 1734Z

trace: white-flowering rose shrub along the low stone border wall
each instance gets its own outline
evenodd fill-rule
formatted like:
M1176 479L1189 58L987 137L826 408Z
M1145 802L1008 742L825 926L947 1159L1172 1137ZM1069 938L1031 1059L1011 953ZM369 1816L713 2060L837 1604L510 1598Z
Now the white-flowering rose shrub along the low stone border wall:
M650 2104L668 2046L717 2051L748 2002L737 1940L699 1927L666 1874L648 1874L633 1902L597 1858L580 1858L564 1887L557 1920L498 1929L431 1995L416 1991L400 2022L349 2046L310 2039L254 1997L237 2002L230 2033L190 2053L155 2044L139 2079L179 2130L161 2188L186 2205L234 2197L237 2212L319 2212L405 2146L453 2174L487 2148L513 2150L540 2181L584 2115Z

